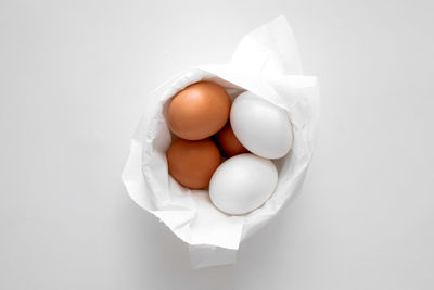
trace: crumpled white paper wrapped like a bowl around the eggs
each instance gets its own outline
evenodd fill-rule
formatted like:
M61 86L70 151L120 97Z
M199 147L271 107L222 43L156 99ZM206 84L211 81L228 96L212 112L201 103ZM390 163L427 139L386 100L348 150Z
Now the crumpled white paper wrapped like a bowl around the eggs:
M167 105L179 90L201 79L220 84L232 99L250 90L285 109L293 123L293 148L276 161L279 181L275 193L244 216L219 212L207 191L186 189L168 175L166 151L171 136L165 119ZM183 71L148 100L123 173L129 196L189 244L193 268L235 263L241 241L299 192L314 153L319 91L316 77L303 75L291 27L283 16L271 21L242 39L230 63Z

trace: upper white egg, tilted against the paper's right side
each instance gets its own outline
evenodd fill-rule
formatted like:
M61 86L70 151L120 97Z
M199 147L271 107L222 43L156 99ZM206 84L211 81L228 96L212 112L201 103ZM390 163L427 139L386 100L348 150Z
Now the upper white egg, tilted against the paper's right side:
M291 150L293 134L286 111L250 91L233 101L230 124L238 140L256 155L280 159Z

